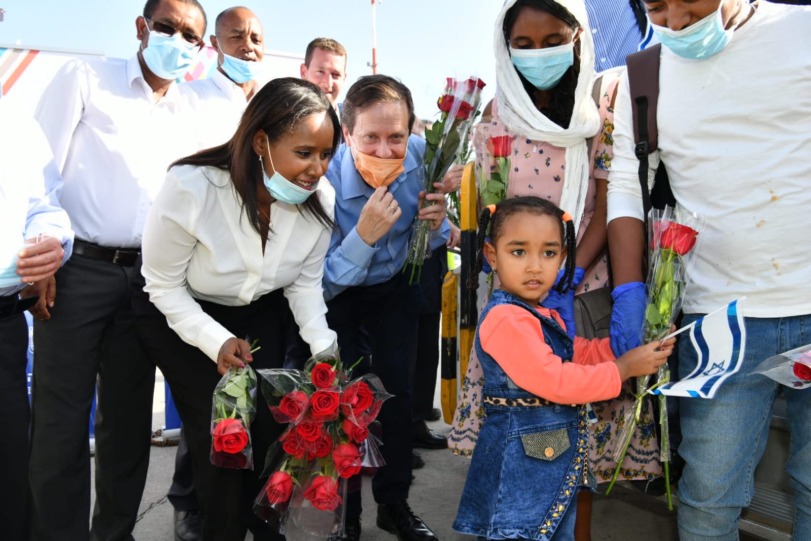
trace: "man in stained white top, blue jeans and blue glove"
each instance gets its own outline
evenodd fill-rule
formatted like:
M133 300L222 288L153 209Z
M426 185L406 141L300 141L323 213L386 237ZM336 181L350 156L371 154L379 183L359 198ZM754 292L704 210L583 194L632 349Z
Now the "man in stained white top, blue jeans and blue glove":
M740 509L786 397L796 489L794 539L811 539L811 393L751 372L811 342L811 8L744 0L650 0L663 43L658 152L677 203L706 217L684 299L684 324L746 296L743 366L712 400L680 400L686 466L682 541L738 539ZM642 200L627 75L615 112L608 237L615 298L611 344L637 346L645 305ZM679 376L696 366L682 337Z

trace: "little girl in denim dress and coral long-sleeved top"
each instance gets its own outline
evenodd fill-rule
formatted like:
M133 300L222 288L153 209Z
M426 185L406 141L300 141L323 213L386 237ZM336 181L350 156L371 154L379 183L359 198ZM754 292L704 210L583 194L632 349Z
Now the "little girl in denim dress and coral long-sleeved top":
M556 311L539 306L564 260L556 289L572 287L575 268L572 217L555 204L504 200L485 209L479 225L474 270L485 255L500 289L476 331L487 415L453 529L484 539L574 539L574 496L594 483L586 474L584 404L616 397L629 377L653 374L674 340L615 359L607 338L572 341ZM478 272L471 276L478 286Z

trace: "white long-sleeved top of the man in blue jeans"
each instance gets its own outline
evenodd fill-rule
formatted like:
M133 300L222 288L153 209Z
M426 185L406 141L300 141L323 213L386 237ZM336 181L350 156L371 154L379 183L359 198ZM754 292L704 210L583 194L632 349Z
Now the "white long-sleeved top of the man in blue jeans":
M684 298L706 313L746 296L746 316L811 313L811 8L758 2L719 54L662 47L659 150L676 201L706 217ZM779 37L778 37L779 36ZM642 220L628 75L614 114L608 221Z

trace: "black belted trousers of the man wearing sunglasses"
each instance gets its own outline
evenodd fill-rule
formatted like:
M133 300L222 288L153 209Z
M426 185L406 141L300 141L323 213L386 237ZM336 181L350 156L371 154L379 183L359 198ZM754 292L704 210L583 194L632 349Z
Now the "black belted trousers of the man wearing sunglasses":
M74 255L56 273L51 319L34 323L32 539L88 539L88 419L98 385L90 539L133 539L149 466L155 367L135 333L123 267Z

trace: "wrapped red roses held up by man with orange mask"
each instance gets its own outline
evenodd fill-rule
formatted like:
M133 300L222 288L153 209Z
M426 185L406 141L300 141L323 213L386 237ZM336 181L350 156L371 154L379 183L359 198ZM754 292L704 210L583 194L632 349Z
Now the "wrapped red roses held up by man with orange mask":
M470 77L465 81L457 81L451 77L445 79L445 89L436 102L440 109L440 119L433 123L430 129L425 130L425 156L423 157L423 189L426 194L436 192L434 186L442 182L453 162L463 152L467 152L467 134L474 118L478 116L478 106L481 104L482 88L485 83L477 77ZM463 144L464 141L464 144ZM423 206L432 204L423 202ZM410 280L414 275L422 273L423 260L431 255L428 242L430 224L425 220L418 220L414 225L409 255L405 264L411 265Z

